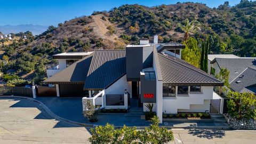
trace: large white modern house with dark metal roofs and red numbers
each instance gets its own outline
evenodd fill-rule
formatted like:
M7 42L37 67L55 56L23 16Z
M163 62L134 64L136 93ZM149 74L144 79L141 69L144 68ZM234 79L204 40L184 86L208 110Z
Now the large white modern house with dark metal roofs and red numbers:
M106 109L127 108L130 98L138 99L143 111L148 111L147 103L154 103L161 123L163 113L204 113L210 110L213 86L223 83L179 59L184 48L158 44L155 36L152 44L142 41L125 50L95 50L44 82L57 85L59 97L86 97L83 100Z

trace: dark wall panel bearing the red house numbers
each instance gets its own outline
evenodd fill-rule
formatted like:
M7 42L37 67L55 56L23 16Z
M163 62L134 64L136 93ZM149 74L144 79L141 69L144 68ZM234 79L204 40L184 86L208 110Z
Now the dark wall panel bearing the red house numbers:
M146 81L145 75L140 75L140 93L142 103L156 103L156 81ZM154 94L154 98L144 98L144 94Z

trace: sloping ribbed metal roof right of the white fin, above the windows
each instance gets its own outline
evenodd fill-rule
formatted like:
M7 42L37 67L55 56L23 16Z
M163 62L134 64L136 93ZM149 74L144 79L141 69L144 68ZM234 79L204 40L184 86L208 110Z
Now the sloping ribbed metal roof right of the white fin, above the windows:
M223 82L187 62L158 53L163 83L173 85L223 86Z

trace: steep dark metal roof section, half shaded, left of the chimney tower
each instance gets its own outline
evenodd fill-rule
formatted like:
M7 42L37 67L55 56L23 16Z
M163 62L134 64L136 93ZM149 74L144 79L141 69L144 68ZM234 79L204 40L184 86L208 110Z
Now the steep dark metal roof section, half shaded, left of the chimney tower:
M126 73L125 50L96 50L84 90L106 89Z

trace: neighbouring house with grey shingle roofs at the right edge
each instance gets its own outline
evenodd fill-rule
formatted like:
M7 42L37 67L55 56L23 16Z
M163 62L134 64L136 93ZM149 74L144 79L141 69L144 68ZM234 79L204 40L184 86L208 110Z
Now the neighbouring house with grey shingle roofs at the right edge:
M209 56L212 59L210 62L212 75L219 74L222 67L230 71L229 83L231 90L256 93L256 58L241 58L225 54L221 54L221 57L217 55L215 58L212 55Z

